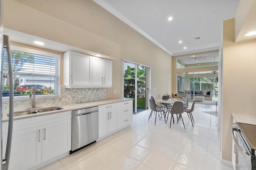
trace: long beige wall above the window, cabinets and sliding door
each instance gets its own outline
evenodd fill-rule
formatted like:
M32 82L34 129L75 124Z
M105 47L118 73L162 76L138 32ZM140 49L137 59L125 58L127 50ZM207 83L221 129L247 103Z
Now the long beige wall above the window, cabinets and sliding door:
M152 67L152 96L170 93L171 56L92 0L4 0L4 27L113 57L106 98L122 96L122 58Z

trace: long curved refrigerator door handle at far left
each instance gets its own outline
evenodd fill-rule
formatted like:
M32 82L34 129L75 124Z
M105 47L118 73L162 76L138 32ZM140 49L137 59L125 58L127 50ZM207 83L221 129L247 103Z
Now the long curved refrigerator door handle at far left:
M4 35L4 46L6 47L7 53L7 64L8 64L8 74L9 74L9 124L8 124L8 136L7 145L5 152L5 162L3 162L3 170L8 170L10 161L10 152L12 145L12 128L13 128L13 103L14 103L14 88L13 88L13 74L12 74L12 55L9 46L9 36Z

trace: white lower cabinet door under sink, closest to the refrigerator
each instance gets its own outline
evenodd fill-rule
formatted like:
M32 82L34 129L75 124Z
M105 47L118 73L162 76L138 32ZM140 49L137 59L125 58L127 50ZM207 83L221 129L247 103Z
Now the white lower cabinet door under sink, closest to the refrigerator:
M26 170L42 163L42 126L12 133L9 170Z

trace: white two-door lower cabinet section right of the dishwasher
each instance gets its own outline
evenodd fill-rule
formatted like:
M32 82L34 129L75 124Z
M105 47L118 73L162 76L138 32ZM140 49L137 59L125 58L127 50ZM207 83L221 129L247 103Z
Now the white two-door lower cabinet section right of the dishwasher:
M117 129L116 104L99 106L99 137Z

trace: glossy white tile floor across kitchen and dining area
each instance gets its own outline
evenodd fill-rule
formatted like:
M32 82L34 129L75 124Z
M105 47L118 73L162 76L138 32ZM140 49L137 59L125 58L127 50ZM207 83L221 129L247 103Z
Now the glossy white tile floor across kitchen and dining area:
M191 104L190 104L191 105ZM170 127L154 117L150 110L133 116L130 127L78 152L68 155L42 170L232 170L220 163L218 121L215 106L196 104L194 127L188 115ZM174 115L174 118L176 116Z

